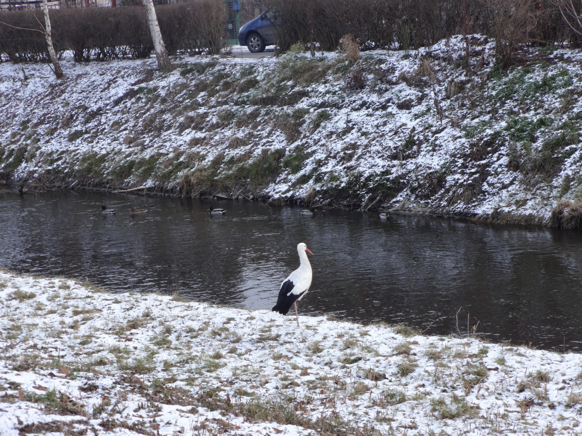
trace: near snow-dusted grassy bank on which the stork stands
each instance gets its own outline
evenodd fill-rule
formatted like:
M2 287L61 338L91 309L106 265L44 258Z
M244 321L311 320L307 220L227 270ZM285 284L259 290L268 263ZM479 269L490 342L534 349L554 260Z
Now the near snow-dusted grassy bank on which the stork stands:
M579 354L9 272L0 310L2 435L580 433Z

